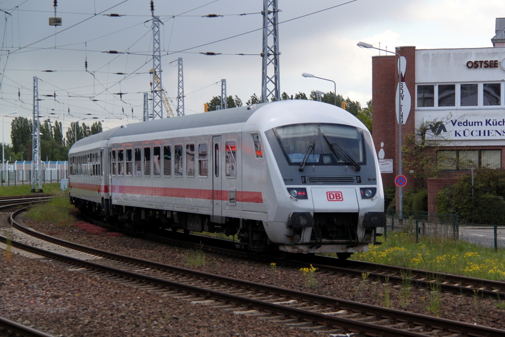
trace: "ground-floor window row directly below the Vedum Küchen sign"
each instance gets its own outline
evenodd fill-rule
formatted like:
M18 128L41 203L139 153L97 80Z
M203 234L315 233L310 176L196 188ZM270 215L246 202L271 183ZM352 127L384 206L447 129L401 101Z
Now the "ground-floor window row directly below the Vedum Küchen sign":
M501 167L501 150L441 150L437 151L437 166L441 170L459 171Z

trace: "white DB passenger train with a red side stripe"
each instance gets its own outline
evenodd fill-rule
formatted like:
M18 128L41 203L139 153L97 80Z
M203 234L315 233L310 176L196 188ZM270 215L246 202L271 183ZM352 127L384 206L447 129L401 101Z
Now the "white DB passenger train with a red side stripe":
M237 246L351 253L385 225L367 128L335 106L280 101L125 124L69 152L70 202L134 230L237 234Z

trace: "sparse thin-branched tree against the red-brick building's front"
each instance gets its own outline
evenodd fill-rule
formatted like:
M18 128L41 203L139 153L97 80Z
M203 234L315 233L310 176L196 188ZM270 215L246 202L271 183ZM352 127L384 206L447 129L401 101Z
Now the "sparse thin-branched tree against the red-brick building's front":
M444 120L449 118L450 116L445 117ZM401 152L405 160L402 161L402 166L406 170L413 171L411 175L419 181L421 188L424 188L426 179L436 177L443 169L439 163L437 165L436 153L442 146L442 142L446 143L448 140L442 134L428 135L428 131L432 131L434 125L436 128L442 123L442 120L426 121L421 123L414 132L403 136Z

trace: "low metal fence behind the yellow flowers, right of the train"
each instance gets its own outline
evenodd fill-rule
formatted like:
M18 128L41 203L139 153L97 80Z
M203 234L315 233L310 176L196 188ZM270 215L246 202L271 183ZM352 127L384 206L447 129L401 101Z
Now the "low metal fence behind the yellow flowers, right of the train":
M415 236L416 242L420 237L463 240L475 245L494 248L505 248L505 225L479 225L459 223L457 214L441 214L417 212L403 215L387 215L384 236L391 233L405 233Z

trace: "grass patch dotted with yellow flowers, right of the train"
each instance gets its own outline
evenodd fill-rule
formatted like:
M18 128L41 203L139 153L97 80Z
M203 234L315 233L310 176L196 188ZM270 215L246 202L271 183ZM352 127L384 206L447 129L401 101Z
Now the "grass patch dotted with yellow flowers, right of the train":
M368 252L356 253L352 258L491 280L505 279L505 251L495 253L493 248L465 241L424 237L416 243L407 234L389 234L382 245L370 246Z

